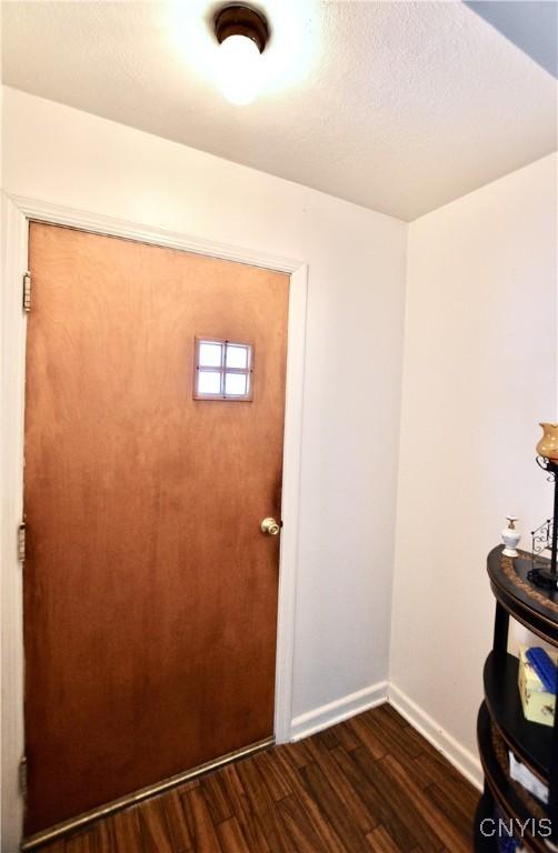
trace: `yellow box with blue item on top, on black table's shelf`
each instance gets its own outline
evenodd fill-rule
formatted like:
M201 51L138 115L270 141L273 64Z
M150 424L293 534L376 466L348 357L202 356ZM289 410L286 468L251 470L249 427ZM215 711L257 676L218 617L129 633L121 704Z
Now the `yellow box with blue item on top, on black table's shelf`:
M558 652L519 646L518 684L526 720L552 725L556 710Z

